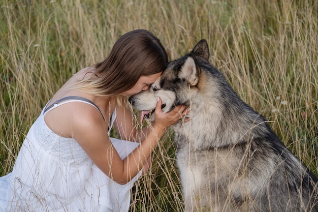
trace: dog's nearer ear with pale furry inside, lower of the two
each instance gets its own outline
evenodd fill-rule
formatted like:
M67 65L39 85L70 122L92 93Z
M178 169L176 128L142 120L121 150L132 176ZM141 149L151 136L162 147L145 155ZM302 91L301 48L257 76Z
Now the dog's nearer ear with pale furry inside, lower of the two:
M191 86L195 86L199 82L199 70L197 69L195 59L188 56L181 67L179 78L186 79Z

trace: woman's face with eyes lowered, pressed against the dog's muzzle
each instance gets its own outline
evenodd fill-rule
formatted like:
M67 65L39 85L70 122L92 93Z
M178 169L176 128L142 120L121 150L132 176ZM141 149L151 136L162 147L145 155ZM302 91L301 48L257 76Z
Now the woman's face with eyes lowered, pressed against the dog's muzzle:
M148 89L148 87L158 78L162 72L151 74L148 76L141 76L136 84L130 88L129 90L126 90L125 92L121 93L122 96L131 96L138 94L142 90Z

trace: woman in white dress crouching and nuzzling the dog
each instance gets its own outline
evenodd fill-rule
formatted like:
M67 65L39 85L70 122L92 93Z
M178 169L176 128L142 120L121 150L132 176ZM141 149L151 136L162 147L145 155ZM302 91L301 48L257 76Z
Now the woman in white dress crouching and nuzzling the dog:
M177 106L164 114L158 99L155 121L137 131L126 106L126 97L147 89L167 62L160 41L136 30L103 62L71 77L30 128L13 171L0 178L0 208L128 211L130 189L158 139L187 113ZM112 126L122 140L109 137Z

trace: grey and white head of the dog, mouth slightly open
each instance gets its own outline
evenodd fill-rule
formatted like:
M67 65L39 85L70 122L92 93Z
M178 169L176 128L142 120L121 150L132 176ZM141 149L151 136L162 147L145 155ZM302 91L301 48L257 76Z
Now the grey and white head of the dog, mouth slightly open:
M147 90L131 96L129 102L147 118L154 111L158 97L162 100L163 112L171 111L176 105L190 106L191 90L196 89L200 80L198 60L208 62L208 59L209 48L203 39L189 54L170 62Z

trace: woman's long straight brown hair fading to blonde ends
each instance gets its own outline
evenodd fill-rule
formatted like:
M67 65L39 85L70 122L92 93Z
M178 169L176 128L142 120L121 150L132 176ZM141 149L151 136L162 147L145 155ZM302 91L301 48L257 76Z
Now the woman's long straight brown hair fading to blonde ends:
M160 40L145 29L121 36L108 57L95 64L91 77L78 81L72 89L95 96L116 97L132 88L141 76L165 70L168 56Z

